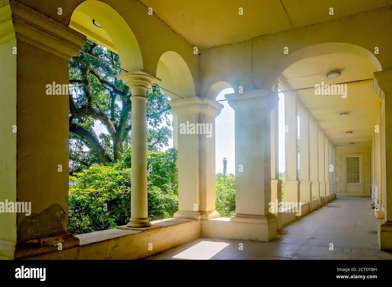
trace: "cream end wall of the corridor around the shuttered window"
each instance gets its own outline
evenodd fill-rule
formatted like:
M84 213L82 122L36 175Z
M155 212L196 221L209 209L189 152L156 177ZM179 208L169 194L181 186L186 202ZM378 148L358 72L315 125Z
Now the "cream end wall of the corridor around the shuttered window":
M346 185L346 156L360 156L361 184ZM337 196L369 196L369 147L336 147L336 188Z

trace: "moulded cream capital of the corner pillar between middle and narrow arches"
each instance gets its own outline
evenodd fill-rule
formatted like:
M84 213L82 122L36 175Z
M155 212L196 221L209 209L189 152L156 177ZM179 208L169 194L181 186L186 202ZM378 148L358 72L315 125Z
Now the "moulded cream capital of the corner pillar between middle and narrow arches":
M212 101L208 98L200 98L198 96L191 98L183 98L169 101L174 113L180 114L207 114L208 116L216 117L220 114L223 105Z

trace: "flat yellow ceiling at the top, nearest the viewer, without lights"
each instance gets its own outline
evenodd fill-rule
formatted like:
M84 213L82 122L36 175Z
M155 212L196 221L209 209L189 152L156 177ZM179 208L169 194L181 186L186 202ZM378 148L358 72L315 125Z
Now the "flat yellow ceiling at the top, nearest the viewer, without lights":
M249 40L391 5L390 0L140 0L200 48ZM239 15L239 8L243 15ZM334 15L329 15L329 8Z

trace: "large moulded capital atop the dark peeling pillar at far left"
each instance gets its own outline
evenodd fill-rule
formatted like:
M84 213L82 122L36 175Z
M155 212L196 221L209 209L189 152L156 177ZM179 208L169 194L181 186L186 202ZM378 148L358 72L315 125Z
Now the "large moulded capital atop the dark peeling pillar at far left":
M0 2L0 44L15 38L66 60L78 54L86 36L18 1Z

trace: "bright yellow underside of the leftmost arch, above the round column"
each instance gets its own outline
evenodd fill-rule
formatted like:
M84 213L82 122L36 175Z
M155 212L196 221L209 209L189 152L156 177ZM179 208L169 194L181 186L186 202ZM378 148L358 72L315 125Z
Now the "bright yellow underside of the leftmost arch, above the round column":
M93 19L102 28L94 26ZM127 71L143 69L142 53L134 33L122 16L108 4L98 0L82 2L71 16L70 27L87 36L98 38L99 44L114 50L120 56L123 69ZM98 35L86 29L87 27L94 29ZM100 29L103 30L102 35L99 35ZM110 38L108 39L107 36Z

